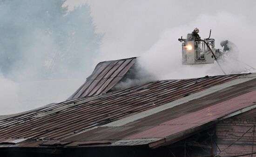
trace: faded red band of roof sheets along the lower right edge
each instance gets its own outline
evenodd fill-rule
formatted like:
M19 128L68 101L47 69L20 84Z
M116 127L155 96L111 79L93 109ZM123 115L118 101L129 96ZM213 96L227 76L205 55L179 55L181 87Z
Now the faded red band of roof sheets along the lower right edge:
M127 139L165 138L174 135L175 133L183 132L189 128L213 121L253 104L256 104L256 90L216 105L206 107L202 110L186 114L185 116L168 120L146 131L127 137Z

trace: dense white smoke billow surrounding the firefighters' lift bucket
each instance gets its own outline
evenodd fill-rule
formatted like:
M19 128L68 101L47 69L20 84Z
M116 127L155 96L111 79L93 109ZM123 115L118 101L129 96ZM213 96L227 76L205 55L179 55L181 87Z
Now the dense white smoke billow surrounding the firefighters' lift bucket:
M219 25L223 24L223 25ZM220 42L229 39L239 48L238 59L256 67L254 62L255 53L252 50L253 37L248 34L256 34L253 26L250 26L242 17L235 17L229 13L217 13L216 15L201 15L189 25L179 26L165 30L159 40L141 57L141 65L151 71L159 79L179 79L201 77L205 75L223 75L218 65L182 65L181 43L177 41L180 36L186 37L186 33L193 31L194 27L200 28L201 38L208 38L209 29L212 29L211 38L216 39L216 48L222 48ZM232 28L232 29L229 29ZM247 28L240 31L241 28ZM248 45L248 46L246 46ZM232 54L231 54L232 57ZM235 63L235 64L234 64ZM237 67L237 62L228 60L221 63L227 74L242 68ZM245 66L247 67L247 66ZM241 70L240 70L241 71Z

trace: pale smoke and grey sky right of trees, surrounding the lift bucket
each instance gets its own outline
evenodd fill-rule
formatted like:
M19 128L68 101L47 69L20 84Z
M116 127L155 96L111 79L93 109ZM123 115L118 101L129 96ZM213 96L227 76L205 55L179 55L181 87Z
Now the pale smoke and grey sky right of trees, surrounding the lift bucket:
M223 75L217 64L181 64L177 39L198 27L202 38L212 29L216 48L222 40L235 43L239 60L256 67L255 0L84 1L92 8L97 31L105 33L97 61L141 56L141 66L160 80ZM223 66L227 74L236 69L230 63Z

